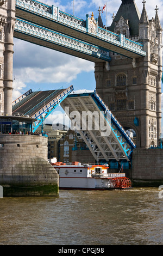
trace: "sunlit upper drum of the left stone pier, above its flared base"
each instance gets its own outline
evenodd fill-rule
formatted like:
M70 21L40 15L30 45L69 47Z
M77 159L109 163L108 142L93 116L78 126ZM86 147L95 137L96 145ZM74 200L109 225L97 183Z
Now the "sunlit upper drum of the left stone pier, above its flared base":
M0 135L0 169L14 167L32 157L47 160L47 138L34 135Z

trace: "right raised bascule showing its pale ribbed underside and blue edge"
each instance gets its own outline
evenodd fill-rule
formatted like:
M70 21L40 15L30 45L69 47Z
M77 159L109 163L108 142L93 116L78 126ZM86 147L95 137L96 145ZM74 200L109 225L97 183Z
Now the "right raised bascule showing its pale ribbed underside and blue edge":
M94 93L71 94L62 101L61 107L73 122L72 129L80 133L96 161L131 160L136 145L96 90Z

